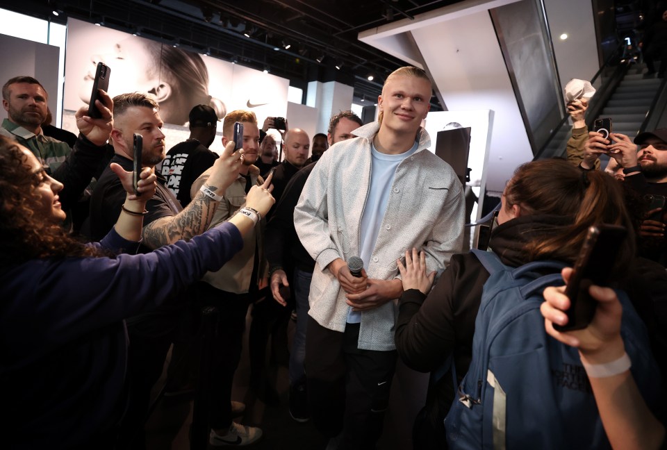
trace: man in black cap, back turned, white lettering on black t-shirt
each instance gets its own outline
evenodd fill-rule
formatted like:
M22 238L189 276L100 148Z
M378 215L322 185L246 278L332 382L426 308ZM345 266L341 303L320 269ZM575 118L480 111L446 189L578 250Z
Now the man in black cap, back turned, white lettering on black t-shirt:
M190 188L199 175L211 167L217 154L209 150L215 139L217 115L211 106L197 105L190 110L190 138L174 145L162 163L162 175L181 206L192 201Z

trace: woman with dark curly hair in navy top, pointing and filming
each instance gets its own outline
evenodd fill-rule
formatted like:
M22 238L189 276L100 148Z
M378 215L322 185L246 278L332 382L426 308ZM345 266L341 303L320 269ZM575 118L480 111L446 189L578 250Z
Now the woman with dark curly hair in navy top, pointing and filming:
M238 171L242 151L228 150L222 158ZM137 197L131 172L112 169L128 192L122 213L101 242L82 244L59 226L63 185L31 151L0 138L0 381L10 449L113 448L128 399L124 317L220 269L274 203L268 179L247 197L258 213L151 253L105 256L138 247L156 179L144 169Z

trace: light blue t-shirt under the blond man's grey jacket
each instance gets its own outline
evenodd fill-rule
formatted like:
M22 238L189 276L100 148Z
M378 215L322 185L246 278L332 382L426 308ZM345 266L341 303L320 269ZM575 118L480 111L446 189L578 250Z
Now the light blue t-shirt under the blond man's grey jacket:
M370 258L375 248L377 234L380 231L382 219L387 209L391 185L394 183L396 167L402 160L411 156L417 151L418 142L411 149L398 155L388 155L380 153L371 146L372 160L370 163L370 186L368 188L368 197L361 215L361 229L359 230L359 258L363 260L363 267L368 267ZM347 311L347 323L359 324L361 322L361 313L349 308Z

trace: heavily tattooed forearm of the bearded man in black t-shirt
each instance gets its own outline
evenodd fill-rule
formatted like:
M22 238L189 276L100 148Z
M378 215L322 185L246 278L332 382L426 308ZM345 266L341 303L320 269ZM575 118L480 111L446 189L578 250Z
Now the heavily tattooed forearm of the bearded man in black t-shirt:
M197 193L195 199L177 215L163 217L145 226L143 243L151 249L157 249L204 233L211 224L217 203L203 192Z

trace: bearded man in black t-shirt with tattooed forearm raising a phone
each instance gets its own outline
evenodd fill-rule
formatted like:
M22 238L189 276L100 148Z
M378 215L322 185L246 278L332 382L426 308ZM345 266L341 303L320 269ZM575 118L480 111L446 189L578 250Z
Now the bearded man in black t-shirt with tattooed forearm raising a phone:
M165 135L161 130L163 121L158 110L158 103L149 94L133 92L114 97L115 122L111 143L115 156L112 163L117 163L128 172L133 170L134 133L142 135L143 167L154 168L165 158ZM148 252L204 233L215 208L224 198L225 189L237 178L242 160L243 152L233 152L233 144L228 144L220 158L215 160L207 183L201 186L186 208L181 208L178 199L165 185L165 179L158 175L156 194L146 204L140 251ZM90 200L93 240L103 238L113 227L122 212L124 198L122 185L110 168L106 168ZM160 306L129 320L129 337L135 342L129 354L129 376L133 381L134 395L122 424L120 447L129 447L132 441L141 444L144 440L143 426L151 387L162 373L170 344L174 343L174 361L181 359L181 351L186 353L190 348L192 335L186 335L181 330L187 328L188 317L198 310L186 302L190 298L187 292L181 292L181 296L183 300L177 306Z

